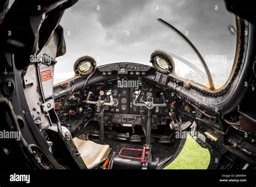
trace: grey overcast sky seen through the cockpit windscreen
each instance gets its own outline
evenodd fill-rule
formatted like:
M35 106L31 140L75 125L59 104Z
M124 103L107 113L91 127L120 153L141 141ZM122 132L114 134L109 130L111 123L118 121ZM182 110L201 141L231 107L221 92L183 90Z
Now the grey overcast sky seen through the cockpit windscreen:
M157 18L188 34L205 58L226 55L227 63L206 60L213 80L225 82L232 68L236 38L228 31L228 25L235 26L235 17L227 12L223 1L80 0L60 21L66 54L57 58L55 83L72 77L73 63L84 55L93 57L97 66L114 62L150 65L151 53L163 49L203 70L192 49ZM186 76L190 68L177 61L176 71Z

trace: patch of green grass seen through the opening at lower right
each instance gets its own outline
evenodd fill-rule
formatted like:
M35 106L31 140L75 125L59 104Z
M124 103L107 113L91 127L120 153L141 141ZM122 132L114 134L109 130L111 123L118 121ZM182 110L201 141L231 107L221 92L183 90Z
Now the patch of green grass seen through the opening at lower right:
M202 148L187 135L186 143L178 157L165 169L207 169L210 163L208 149Z

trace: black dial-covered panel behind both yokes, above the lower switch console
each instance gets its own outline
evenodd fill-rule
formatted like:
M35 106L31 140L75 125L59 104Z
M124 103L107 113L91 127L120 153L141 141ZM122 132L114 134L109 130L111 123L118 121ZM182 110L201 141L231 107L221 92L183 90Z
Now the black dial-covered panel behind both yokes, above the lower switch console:
M118 88L117 83L112 83L111 85L102 87L100 90L93 91L95 97L92 97L92 99L97 100L97 98L102 97L103 100L109 101L109 96L106 96L105 94L107 90L111 90L112 92L114 105L105 106L104 112L140 115L147 114L145 106L133 105L133 101L136 97L135 91L138 90L136 88ZM172 102L172 98L170 97L171 93L166 93L163 89L145 82L139 86L139 90L141 90L141 93L138 100L146 100L146 97L152 97L154 103L163 103L163 100L160 97L160 93L163 92L167 105L165 107L154 107L152 109L152 114L168 115L170 112L170 102ZM100 96L100 92L104 93L104 95Z

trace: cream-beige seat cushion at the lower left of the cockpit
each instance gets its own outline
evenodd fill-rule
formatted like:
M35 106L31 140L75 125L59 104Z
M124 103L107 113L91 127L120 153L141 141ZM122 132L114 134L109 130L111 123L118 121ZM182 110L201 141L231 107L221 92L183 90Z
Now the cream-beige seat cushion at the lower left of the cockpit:
M100 161L105 159L110 152L109 145L99 145L90 140L73 138L81 157L88 169L93 168Z

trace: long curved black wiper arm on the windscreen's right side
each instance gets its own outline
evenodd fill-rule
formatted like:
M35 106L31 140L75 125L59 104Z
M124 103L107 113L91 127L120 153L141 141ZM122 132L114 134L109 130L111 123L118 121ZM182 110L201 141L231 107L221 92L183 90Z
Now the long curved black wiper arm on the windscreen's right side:
M208 77L208 82L210 84L210 89L211 90L214 90L214 84L213 84L213 80L212 80L212 75L210 73L210 70L203 58L203 56L200 54L200 52L198 51L198 49L192 44L192 42L190 40L188 40L188 38L183 34L181 33L177 28L175 28L174 26L172 26L171 24L167 23L166 21L164 21L163 19L160 19L158 18L157 19L160 23L163 23L164 25L170 27L174 32L176 32L178 35L180 35L181 38L183 38L187 44L189 44L192 49L194 50L194 52L196 52L196 54L198 55L200 61L202 62L204 68L205 68L205 71L206 71L206 74L207 74L207 77Z

